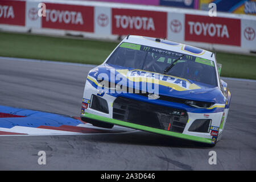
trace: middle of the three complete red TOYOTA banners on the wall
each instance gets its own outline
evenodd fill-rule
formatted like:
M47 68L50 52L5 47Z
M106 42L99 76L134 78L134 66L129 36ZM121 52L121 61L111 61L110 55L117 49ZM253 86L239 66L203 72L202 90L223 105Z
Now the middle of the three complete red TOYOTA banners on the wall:
M112 9L112 34L167 36L167 13L131 9Z

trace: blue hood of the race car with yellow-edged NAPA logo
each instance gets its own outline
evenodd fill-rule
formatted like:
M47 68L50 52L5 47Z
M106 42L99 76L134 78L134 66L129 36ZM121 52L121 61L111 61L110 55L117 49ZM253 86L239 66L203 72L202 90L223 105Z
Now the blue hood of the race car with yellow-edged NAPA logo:
M133 87L148 93L152 93L154 90L153 92L162 96L225 104L225 98L218 87L142 69L101 64L92 69L88 76L96 80L99 77L104 77L103 80L119 85L126 83L130 88Z

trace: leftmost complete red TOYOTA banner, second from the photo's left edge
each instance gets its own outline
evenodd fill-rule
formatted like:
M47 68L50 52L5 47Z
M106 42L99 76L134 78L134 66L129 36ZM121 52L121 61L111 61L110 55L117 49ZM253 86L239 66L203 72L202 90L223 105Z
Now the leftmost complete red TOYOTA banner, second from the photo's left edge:
M46 3L42 28L94 32L94 7Z

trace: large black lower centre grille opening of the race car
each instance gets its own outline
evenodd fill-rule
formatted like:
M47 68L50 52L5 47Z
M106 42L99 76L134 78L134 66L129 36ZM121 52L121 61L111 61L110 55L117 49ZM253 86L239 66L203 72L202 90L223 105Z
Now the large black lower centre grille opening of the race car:
M188 121L185 110L118 97L113 103L113 118L138 125L183 133Z

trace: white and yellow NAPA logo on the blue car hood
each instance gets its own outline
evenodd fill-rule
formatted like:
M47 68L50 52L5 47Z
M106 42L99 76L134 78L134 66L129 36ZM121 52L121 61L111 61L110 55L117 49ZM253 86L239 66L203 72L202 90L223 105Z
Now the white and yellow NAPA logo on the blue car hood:
M162 75L141 69L119 69L117 72L133 82L150 82L152 84L167 86L177 91L200 89L199 86L191 84L191 82L184 78Z

